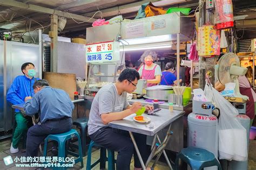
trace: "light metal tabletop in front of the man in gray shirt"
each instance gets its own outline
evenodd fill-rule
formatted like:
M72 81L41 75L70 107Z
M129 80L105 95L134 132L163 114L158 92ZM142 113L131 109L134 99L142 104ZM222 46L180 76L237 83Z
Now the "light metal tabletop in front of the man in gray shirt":
M109 126L111 128L146 134L148 136L154 136L154 134L164 129L165 126L176 121L176 119L183 116L184 114L184 111L173 110L173 112L170 112L168 109L162 109L156 112L155 115L142 115L150 117L150 123L142 124L135 122L133 120L133 117L136 116L136 114L132 114L125 117L123 120L110 122Z

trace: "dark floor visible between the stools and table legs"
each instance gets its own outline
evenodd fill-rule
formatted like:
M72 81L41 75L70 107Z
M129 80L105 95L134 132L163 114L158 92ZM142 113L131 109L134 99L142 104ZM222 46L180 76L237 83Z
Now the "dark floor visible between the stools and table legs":
M35 169L35 168L17 168L15 167L15 164L11 164L9 166L5 166L3 158L11 155L12 159L14 159L15 157L22 157L23 155L25 155L25 153L22 152L18 152L16 154L11 154L9 151L10 148L10 138L9 139L3 139L0 140L0 169ZM99 158L99 150L96 150L92 153L92 162L95 162L98 158ZM115 158L117 157L117 153L115 152ZM250 140L250 151L249 151L249 170L255 170L256 169L256 140ZM82 169L86 169L86 160L87 160L87 156L83 158L84 161L84 168ZM80 164L78 164L80 165ZM72 169L79 169L80 167L78 165L75 165ZM150 165L152 165L152 162L150 163ZM106 167L107 167L107 163L106 163ZM99 164L95 167L93 167L93 169L99 169ZM133 169L133 158L131 161L131 169ZM154 168L156 170L165 170L165 169L169 169L169 167L166 166L166 164L159 162L157 164L157 166ZM241 169L241 170L245 170L245 169Z

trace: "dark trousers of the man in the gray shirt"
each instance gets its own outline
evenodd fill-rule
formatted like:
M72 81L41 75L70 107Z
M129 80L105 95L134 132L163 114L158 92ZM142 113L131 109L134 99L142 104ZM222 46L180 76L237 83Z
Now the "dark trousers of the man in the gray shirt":
M146 135L133 133L139 152L142 155L144 164L147 160ZM90 138L97 144L102 145L112 151L118 151L117 169L129 170L132 154L134 153L134 167L141 168L138 155L133 146L129 132L123 130L104 127L90 135Z

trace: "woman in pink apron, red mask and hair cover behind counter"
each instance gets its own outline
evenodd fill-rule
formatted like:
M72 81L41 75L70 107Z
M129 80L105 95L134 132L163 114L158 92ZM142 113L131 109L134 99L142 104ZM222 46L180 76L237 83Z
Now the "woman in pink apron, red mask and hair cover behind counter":
M157 53L145 51L140 60L145 64L139 68L138 72L142 79L147 80L147 87L156 86L161 81L161 68L153 61L157 58Z

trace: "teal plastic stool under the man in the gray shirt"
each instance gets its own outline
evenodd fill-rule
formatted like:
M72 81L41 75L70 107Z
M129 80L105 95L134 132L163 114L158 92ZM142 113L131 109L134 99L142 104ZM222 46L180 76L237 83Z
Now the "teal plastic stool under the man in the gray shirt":
M100 147L100 158L91 165L91 155L92 155L92 147L93 146ZM105 169L106 161L108 162L107 169L114 170L115 169L114 163L116 162L116 160L114 160L114 152L111 150L107 150L107 157L106 157L106 148L101 145L96 144L94 141L91 140L91 143L88 148L88 153L87 153L86 170L92 169L99 163L100 163L100 166L99 166L100 169Z

